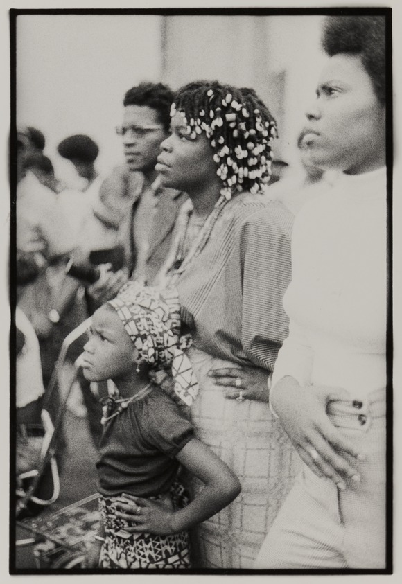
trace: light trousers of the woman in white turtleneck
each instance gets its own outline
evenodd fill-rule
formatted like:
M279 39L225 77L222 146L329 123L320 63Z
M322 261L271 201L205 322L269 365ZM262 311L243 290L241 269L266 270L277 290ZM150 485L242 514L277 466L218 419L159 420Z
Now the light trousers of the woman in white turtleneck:
M331 402L329 417L365 461L344 491L306 465L283 503L254 565L258 569L385 568L385 389Z

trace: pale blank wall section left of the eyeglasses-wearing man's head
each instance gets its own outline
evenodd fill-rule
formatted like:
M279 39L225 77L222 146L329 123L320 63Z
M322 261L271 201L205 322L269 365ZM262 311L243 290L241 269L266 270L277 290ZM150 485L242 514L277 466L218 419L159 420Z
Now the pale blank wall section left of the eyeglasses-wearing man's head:
M19 15L17 124L38 127L59 175L73 169L56 147L66 136L88 134L100 146L107 172L122 160L125 91L161 76L161 17L154 15Z

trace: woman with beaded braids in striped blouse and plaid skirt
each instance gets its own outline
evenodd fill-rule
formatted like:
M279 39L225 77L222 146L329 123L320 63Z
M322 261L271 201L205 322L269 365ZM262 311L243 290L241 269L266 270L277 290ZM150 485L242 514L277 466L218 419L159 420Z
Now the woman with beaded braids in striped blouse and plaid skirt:
M189 201L159 283L177 286L184 332L193 336L197 435L242 484L237 502L200 525L195 548L202 567L247 568L297 463L267 387L288 331L292 215L265 194L276 125L254 90L190 83L171 118L156 168L161 184Z

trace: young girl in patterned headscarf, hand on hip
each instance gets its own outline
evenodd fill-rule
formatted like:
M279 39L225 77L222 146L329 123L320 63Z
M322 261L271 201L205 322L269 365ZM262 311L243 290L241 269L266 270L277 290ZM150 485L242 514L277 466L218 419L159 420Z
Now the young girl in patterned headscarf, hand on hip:
M236 475L194 438L184 409L151 380L152 371L171 367L175 393L191 405L198 384L180 348L179 330L173 289L162 296L129 282L94 313L82 356L84 375L90 381L112 379L118 393L103 408L96 465L102 524L88 567L188 568L187 530L240 493ZM188 505L177 482L180 464L204 483ZM129 525L121 511L132 513L132 506L136 522Z

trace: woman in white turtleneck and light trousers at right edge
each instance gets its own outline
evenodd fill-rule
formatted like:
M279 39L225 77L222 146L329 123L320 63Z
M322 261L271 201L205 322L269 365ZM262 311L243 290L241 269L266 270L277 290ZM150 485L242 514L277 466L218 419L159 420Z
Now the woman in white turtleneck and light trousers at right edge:
M385 568L387 180L383 17L328 17L305 128L341 171L295 220L270 407L304 461L257 568Z

